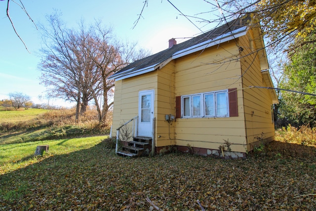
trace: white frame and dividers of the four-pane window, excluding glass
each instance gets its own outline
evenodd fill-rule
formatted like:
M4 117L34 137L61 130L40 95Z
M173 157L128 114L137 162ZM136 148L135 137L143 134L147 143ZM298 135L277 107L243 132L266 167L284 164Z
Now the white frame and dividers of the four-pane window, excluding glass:
M220 93L226 93L226 114L220 115L218 114L218 102L217 102L217 95ZM205 95L213 94L213 104L214 104L214 115L206 115L205 111ZM193 116L193 97L199 96L200 98L200 115ZM184 99L189 98L189 107L190 107L190 115L184 116ZM190 95L183 95L181 96L181 118L183 119L190 119L190 118L225 118L229 117L229 98L228 98L228 89L226 90L218 90L218 91L209 91L209 92L202 92L202 93L196 93L196 94L190 94Z

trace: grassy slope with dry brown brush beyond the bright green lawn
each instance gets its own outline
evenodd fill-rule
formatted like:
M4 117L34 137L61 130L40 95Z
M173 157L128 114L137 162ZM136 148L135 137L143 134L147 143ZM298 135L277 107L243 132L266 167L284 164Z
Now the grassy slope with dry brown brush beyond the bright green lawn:
M81 115L78 124L74 122L74 109L0 109L0 145L109 133L110 127L98 126L93 111Z

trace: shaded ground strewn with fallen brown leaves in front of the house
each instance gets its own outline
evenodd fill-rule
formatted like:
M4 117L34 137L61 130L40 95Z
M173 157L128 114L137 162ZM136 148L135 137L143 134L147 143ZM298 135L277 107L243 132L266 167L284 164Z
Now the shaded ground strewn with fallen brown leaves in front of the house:
M315 147L273 142L247 159L128 159L101 142L0 175L0 210L316 210ZM304 196L305 195L305 196Z

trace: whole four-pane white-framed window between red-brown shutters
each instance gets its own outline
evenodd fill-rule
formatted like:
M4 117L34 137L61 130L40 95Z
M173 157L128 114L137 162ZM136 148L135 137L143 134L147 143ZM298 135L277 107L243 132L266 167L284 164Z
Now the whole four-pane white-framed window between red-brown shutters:
M181 117L229 117L228 90L181 96Z

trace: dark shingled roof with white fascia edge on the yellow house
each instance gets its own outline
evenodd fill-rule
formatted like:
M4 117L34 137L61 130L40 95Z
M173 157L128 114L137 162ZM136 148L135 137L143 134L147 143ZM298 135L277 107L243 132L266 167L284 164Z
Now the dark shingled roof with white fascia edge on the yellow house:
M235 19L186 42L175 44L156 54L137 60L119 70L109 79L122 80L154 71L173 59L243 36L247 31L246 26L249 20L250 18L242 17Z

